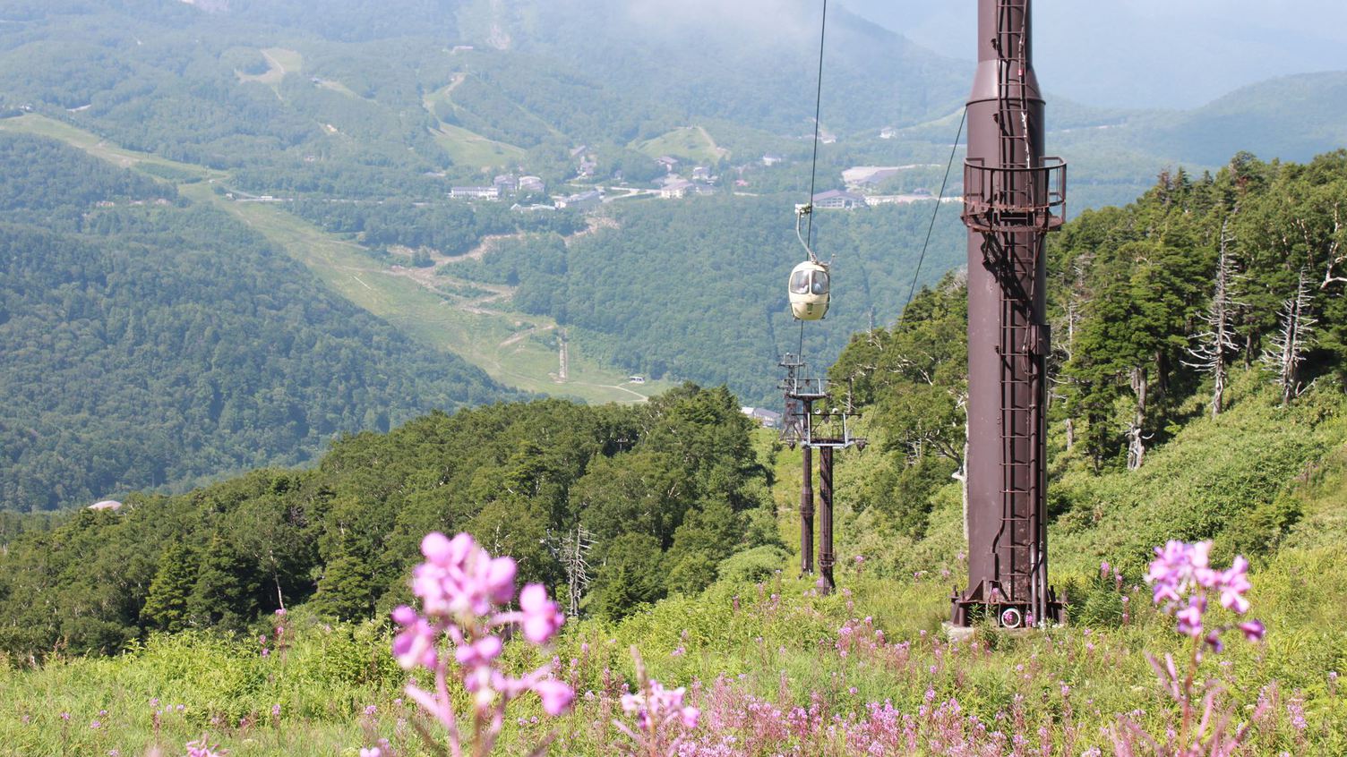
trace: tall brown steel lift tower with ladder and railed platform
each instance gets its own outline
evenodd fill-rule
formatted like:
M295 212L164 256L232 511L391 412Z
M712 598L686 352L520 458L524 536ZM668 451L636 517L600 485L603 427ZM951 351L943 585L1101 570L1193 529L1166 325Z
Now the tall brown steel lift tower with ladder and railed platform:
M1047 272L1061 226L1065 164L1044 156L1030 0L978 1L963 222L968 228L968 586L954 625L1059 620L1048 586Z

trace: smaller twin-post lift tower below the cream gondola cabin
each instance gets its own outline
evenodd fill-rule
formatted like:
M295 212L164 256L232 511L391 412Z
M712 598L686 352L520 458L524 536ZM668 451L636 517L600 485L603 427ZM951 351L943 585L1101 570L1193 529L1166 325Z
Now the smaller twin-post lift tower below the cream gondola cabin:
M819 587L836 589L832 566L832 454L854 446L865 449L865 439L851 435L851 419L859 418L851 407L851 393L846 404L836 407L824 378L811 378L808 365L797 354L781 358L785 395L781 440L795 449L803 447L803 481L800 485L800 574L814 572L814 450L819 451Z

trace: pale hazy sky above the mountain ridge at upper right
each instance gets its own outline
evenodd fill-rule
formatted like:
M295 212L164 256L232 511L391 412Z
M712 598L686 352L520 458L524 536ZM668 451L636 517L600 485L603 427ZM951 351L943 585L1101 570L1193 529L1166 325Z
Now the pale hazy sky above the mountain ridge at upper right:
M842 0L946 55L975 55L977 0ZM1272 77L1347 70L1347 0L1036 0L1034 66L1091 105L1191 108Z

